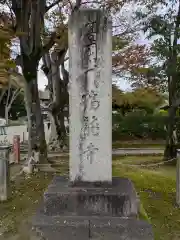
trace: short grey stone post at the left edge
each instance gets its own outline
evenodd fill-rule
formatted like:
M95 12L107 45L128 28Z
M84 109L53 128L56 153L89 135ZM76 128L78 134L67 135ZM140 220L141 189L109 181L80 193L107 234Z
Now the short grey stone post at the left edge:
M10 146L0 146L0 201L8 199Z

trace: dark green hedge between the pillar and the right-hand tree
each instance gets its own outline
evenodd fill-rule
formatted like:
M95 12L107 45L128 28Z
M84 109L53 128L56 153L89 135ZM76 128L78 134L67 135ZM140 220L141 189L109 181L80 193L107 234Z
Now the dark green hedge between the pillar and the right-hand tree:
M113 114L113 141L119 139L165 139L167 117L161 115Z

